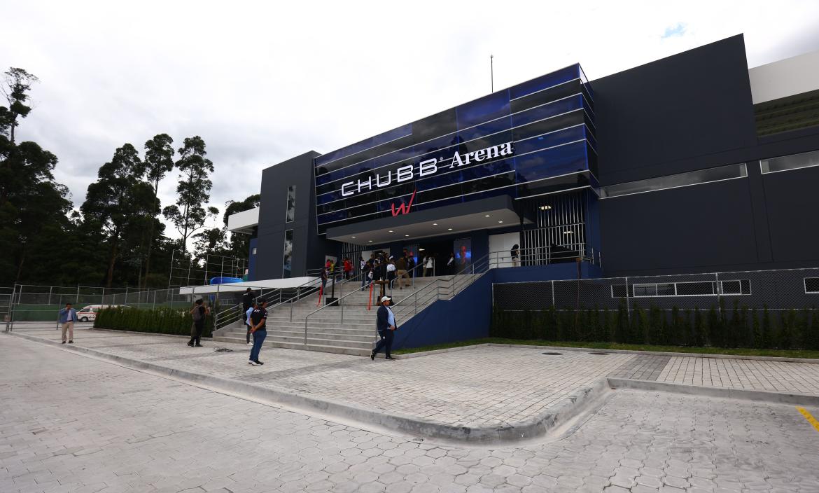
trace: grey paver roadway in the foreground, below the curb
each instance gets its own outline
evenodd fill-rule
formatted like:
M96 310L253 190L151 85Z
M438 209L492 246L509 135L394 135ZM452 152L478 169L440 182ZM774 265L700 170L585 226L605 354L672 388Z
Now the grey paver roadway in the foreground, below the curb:
M405 363L417 364L393 364ZM0 372L3 492L819 491L819 432L793 405L618 390L562 436L487 448L345 426L19 337L0 335Z

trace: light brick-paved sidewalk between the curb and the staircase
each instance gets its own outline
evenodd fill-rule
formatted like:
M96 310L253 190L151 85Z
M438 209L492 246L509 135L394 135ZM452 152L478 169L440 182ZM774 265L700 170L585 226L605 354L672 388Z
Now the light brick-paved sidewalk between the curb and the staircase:
M56 330L13 334L52 344L60 340ZM819 396L819 364L595 354L600 351L545 355L560 351L499 346L398 361L381 356L371 361L265 347L260 356L265 365L254 367L247 364L249 346L213 341L201 348L185 344L183 337L77 330L75 345L61 347L219 378L242 385L244 391L252 386L319 405L338 403L357 413L350 416L354 419L402 418L416 423L420 435L425 433L423 426L442 427L453 438L473 433L478 439L479 430L517 428L526 434L532 432L526 428L532 423L541 423L536 432L543 432L544 419L551 420L549 426L564 420L566 416L559 412L591 400L600 390L595 386L605 378ZM232 352L216 352L217 347Z

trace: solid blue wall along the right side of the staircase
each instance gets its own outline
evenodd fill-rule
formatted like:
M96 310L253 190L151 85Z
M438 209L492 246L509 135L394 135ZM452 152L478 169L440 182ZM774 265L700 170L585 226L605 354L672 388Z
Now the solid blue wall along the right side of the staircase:
M600 277L600 268L581 264L583 278ZM576 264L532 265L490 269L451 300L429 305L407 323L398 320L395 349L432 346L446 342L489 337L492 315L492 283L524 283L576 279Z

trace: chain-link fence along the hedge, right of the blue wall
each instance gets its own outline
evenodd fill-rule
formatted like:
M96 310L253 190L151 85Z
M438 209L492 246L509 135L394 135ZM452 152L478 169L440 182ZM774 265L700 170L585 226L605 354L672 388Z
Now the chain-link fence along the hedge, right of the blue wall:
M819 349L819 269L495 283L493 334Z

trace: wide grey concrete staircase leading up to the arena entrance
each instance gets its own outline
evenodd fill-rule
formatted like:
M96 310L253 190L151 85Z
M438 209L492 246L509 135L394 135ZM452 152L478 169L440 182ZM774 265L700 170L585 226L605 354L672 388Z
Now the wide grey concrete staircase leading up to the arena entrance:
M396 283L391 292L392 304L396 305L396 319L399 323L405 322L434 301L449 299L457 294L454 291L463 288L459 286L468 285L469 278L477 275L480 274L415 278L414 287L403 289L398 289ZM458 278L458 283L451 280L453 277ZM367 310L369 288L361 292L360 282L336 283L335 295L340 298L339 306L325 306L323 310L315 311L319 308L319 296L315 293L292 305L283 303L268 307L265 346L369 355L378 338L375 328L378 289L378 286L374 289L371 310ZM390 294L389 290L387 294ZM215 331L213 340L244 343L246 332L247 328L239 320Z

